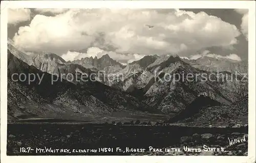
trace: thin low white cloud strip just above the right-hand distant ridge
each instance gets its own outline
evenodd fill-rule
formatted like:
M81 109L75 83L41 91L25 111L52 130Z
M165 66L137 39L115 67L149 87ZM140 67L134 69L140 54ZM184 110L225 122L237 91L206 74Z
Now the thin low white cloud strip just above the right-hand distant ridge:
M196 54L196 55L192 55L190 57L181 57L181 58L185 58L187 60L197 60L203 56L206 56L206 57L211 57L211 58L223 58L223 59L230 59L230 60L235 60L235 61L242 61L241 58L232 53L232 54L229 54L227 56L221 56L221 55L217 55L215 53L210 53L209 50L204 50L202 53L200 54Z

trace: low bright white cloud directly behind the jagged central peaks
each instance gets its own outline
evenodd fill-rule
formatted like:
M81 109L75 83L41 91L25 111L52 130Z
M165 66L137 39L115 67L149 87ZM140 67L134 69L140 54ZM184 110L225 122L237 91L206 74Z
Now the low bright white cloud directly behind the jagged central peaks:
M103 55L106 55L106 54L108 54L112 59L122 64L131 63L133 61L140 60L141 58L144 57L144 55L138 55L137 53L122 54L114 51L105 51L98 47L90 47L87 49L87 52L85 53L69 50L67 53L64 53L61 57L66 61L74 61L74 60L80 60L86 57L101 58Z

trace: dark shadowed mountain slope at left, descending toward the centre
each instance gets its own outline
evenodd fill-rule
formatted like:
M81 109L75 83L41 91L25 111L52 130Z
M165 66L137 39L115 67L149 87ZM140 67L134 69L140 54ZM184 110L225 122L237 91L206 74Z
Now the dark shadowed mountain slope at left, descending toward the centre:
M36 74L29 83L14 73ZM13 78L12 78L13 77ZM41 83L40 83L41 82ZM40 84L39 84L40 83ZM9 119L33 117L58 117L63 114L99 115L127 111L143 114L158 113L137 98L99 82L84 82L74 85L60 78L52 83L52 75L29 66L17 59L8 50L8 117Z

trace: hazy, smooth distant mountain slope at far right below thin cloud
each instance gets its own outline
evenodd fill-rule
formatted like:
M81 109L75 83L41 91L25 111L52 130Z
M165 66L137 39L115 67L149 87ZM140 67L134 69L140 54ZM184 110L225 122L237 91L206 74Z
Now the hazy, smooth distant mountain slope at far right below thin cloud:
M248 63L224 58L203 56L197 60L182 59L191 66L205 71L227 71L233 74L248 73Z

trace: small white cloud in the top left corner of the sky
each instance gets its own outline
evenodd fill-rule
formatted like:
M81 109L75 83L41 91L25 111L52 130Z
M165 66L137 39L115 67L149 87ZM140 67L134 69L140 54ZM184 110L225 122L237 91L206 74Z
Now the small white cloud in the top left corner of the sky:
M30 20L30 9L8 9L8 23L16 25L19 22Z

